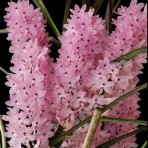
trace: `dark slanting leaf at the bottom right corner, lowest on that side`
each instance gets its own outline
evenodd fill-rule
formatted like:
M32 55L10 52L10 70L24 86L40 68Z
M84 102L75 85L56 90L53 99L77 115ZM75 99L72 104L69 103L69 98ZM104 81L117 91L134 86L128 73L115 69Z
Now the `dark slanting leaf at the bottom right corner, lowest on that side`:
M117 137L117 138L114 138L114 139L112 139L112 140L110 140L110 141L108 141L108 142L105 142L105 143L99 145L97 148L108 148L108 147L114 145L115 143L117 143L117 142L119 142L119 141L125 139L125 138L128 138L128 137L130 137L130 136L133 136L133 135L138 134L139 132L141 132L141 131L143 131L143 130L147 130L147 128L146 128L145 126L140 127L140 128L138 128L137 130L134 130L134 131L132 131L132 132L130 132L130 133L127 133L127 134L124 134L124 135L119 136L119 137Z

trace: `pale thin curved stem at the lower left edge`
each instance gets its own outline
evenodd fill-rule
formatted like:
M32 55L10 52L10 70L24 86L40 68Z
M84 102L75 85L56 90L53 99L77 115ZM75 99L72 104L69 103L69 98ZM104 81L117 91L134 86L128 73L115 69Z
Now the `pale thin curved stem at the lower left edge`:
M1 115L0 115L0 132L1 132L1 138L2 138L2 148L6 148L6 137L4 136L5 130L4 130L4 125L3 125Z

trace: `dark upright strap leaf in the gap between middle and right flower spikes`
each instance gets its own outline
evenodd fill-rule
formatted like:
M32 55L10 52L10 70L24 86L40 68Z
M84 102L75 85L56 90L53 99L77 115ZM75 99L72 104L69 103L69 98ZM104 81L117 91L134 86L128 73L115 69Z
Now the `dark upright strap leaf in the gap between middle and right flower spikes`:
M109 33L112 32L112 1L108 0L108 5L105 13L105 24L106 24L106 29Z

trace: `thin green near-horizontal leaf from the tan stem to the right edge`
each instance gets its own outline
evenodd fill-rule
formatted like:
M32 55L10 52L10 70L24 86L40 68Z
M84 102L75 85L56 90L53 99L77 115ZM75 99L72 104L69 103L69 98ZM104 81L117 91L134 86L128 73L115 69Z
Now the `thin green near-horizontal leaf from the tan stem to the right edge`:
M133 119L123 119L123 118L107 118L107 117L102 117L100 119L100 122L121 122L121 123L134 123L138 125L144 125L147 126L146 121L142 120L133 120Z

